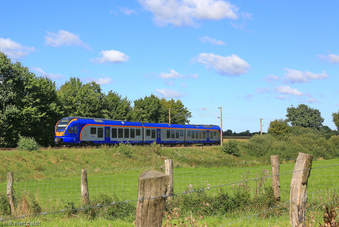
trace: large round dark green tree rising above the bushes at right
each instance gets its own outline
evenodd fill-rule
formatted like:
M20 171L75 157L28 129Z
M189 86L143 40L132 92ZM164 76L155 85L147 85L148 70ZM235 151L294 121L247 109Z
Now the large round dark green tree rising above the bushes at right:
M286 117L292 126L316 128L318 130L320 130L324 122L318 109L310 108L305 104L300 104L297 108L293 106L287 107Z

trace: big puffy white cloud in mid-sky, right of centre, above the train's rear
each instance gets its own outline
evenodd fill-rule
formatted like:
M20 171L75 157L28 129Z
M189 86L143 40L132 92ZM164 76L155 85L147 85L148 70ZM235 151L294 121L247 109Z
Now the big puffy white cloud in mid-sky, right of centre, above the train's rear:
M250 65L235 54L223 57L212 53L200 53L191 59L192 62L199 62L207 69L215 68L220 75L237 76L246 73Z

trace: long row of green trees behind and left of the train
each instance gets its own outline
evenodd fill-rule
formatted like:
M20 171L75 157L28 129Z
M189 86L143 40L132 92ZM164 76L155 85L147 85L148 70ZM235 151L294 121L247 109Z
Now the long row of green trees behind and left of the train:
M47 76L36 76L0 51L0 147L16 146L19 135L40 145L54 144L54 126L63 117L78 116L149 123L189 123L191 112L180 100L154 94L132 101L116 91L102 92L92 81L71 77L57 87ZM180 114L179 114L180 113Z

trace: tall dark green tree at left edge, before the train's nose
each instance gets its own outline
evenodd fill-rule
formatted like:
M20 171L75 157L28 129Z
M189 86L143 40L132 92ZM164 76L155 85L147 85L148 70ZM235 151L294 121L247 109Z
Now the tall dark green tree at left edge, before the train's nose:
M55 83L0 52L0 146L16 146L19 135L51 144L61 115Z

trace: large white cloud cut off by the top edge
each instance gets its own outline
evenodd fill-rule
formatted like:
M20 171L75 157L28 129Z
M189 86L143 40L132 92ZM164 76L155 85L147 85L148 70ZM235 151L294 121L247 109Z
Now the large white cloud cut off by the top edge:
M238 7L222 0L139 0L143 8L153 13L159 26L197 26L195 20L237 19Z

